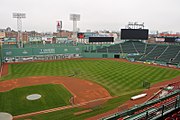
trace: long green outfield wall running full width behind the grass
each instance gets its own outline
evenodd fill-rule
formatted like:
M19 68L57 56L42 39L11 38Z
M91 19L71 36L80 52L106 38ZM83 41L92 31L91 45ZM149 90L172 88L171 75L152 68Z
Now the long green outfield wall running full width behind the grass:
M106 52L97 52L97 49L104 48L109 45L46 45L43 44L24 47L24 48L13 48L13 47L3 47L1 51L1 63L2 62L13 62L13 61L26 61L26 59L31 60L56 60L62 58L126 58L131 62L143 62L147 64L158 64L162 66L180 68L180 64L172 64L158 60L144 60L136 61L134 57L141 56L137 53L109 53Z

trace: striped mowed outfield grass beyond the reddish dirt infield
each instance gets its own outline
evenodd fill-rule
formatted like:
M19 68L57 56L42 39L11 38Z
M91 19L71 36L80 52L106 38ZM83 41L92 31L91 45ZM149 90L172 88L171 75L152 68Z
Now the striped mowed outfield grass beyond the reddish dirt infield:
M153 84L180 75L179 70L113 60L24 63L11 64L9 68L9 74L2 80L27 76L69 76L75 73L75 77L99 83L112 95L141 91L144 80Z

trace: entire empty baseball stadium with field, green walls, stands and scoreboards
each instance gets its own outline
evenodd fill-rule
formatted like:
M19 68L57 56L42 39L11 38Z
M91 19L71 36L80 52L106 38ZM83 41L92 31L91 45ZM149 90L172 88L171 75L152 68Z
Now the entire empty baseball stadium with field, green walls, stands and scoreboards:
M147 33L122 29L123 41L113 44L112 37L89 37L89 44L2 44L0 115L178 120L180 44L147 43Z

